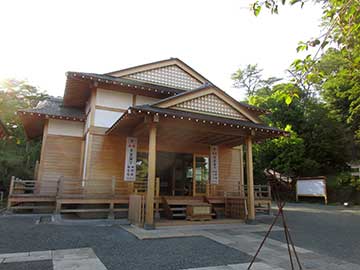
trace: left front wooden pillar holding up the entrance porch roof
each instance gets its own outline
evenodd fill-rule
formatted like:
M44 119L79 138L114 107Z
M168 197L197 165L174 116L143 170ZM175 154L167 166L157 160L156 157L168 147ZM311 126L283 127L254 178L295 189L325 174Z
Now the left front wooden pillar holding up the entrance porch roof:
M154 224L154 192L156 172L156 126L150 126L149 157L148 157L148 183L146 193L145 229L155 228Z

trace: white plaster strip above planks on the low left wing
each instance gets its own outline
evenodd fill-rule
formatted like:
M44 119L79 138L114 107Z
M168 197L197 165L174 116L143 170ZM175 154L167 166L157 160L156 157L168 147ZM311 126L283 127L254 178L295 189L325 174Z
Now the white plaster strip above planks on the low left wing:
M52 135L82 137L84 122L49 119L48 133Z

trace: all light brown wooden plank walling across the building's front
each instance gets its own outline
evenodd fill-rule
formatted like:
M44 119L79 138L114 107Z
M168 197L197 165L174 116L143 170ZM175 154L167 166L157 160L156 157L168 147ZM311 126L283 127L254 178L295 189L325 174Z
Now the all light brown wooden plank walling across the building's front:
M87 179L110 180L116 177L116 187L126 192L128 183L124 178L126 137L90 134L91 145L87 165ZM139 140L139 151L147 152L147 140ZM60 176L81 179L83 139L70 136L48 135L44 146L41 172L41 193L55 194ZM208 154L208 146L167 144L158 142L158 151ZM239 150L219 147L219 178L224 191L234 191L240 181Z

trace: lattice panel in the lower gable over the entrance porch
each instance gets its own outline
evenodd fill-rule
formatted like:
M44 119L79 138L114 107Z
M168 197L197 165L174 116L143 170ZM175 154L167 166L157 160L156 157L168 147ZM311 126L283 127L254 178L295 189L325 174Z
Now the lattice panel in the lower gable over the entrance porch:
M176 108L248 121L244 115L214 94L176 104L173 109Z

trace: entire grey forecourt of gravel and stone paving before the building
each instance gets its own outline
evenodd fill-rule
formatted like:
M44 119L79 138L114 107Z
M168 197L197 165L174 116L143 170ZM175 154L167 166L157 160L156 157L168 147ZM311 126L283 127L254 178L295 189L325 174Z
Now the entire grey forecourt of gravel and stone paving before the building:
M343 227L335 226L331 230L323 228L326 224L331 224L328 226L331 228L334 224L338 225L339 215L329 210L329 213L322 214L326 215L326 219L321 219L316 209L308 208L307 212L292 211L295 217L291 216L291 211L288 212L289 219L294 223L290 228L294 230L295 244L300 246L296 249L303 269L360 269L360 262L354 258L348 262L351 259L349 256L339 258L329 252L324 253L324 250L336 249L338 245L342 247L341 243L348 243L347 238L342 242L336 241ZM320 210L324 212L327 209ZM349 218L357 220L360 216L356 213L341 217L347 228ZM115 223L107 225L88 221L82 224L39 224L36 220L35 217L1 218L0 252L7 254L0 254L0 270L117 270L119 267L158 270L169 269L169 266L172 266L171 269L186 270L245 270L269 227L264 223L236 223L169 226L146 231ZM317 223L325 233L320 234L316 230ZM287 246L279 237L283 235L282 228L275 226L273 231L252 270L290 269ZM334 234L335 240L330 241ZM133 235L141 240L152 241L139 241ZM354 233L351 235L357 239ZM327 249L319 249L319 245L314 243L323 241L323 238L329 239ZM155 257L154 251L157 254ZM140 253L142 256L138 256Z

